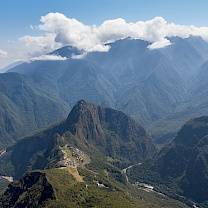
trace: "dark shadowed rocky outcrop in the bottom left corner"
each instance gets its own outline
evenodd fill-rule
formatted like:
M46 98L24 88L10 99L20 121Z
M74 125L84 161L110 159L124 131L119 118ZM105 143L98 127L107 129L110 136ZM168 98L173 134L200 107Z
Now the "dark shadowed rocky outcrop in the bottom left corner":
M20 182L9 185L1 197L1 207L42 207L45 202L54 199L54 191L44 173L33 172L25 174Z

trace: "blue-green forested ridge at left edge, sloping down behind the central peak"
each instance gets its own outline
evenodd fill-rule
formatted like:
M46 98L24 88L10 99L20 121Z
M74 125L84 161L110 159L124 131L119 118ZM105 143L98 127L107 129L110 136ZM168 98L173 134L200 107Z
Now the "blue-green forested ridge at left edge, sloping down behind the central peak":
M0 75L0 147L5 148L31 131L47 126L68 111L62 100L44 94L26 75Z

